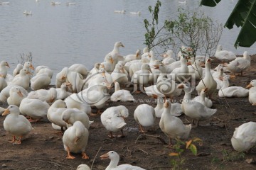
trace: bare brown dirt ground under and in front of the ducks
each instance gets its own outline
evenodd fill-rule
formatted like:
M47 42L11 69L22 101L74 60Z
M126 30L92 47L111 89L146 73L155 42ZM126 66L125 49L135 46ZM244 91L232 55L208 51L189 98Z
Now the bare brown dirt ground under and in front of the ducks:
M212 68L218 64L213 61ZM246 86L250 80L256 79L256 56L251 57L251 67L241 76L237 76L230 84L235 86ZM130 89L132 90L132 88ZM196 96L194 91L193 96ZM147 103L156 106L154 98L146 94L134 94L137 99L149 99ZM179 97L183 98L183 94ZM189 139L198 137L203 140L203 145L197 146L198 154L194 156L188 150L183 153L183 165L181 169L256 169L256 149L247 153L238 153L233 149L230 139L236 127L249 121L256 122L255 106L252 106L248 98L218 98L216 93L213 108L218 111L209 120L201 122L198 128L192 128ZM132 164L144 169L165 170L171 169L169 153L174 152L160 139L168 142L167 137L159 128L160 118L155 120L154 130L147 128L149 132L142 135L139 125L134 120L134 110L140 102L109 102L105 108L110 106L124 105L129 109L127 126L124 128L123 138L110 139L108 132L100 122L100 115L90 116L94 120L89 132L90 137L86 153L90 159L82 159L80 154L73 154L75 159L65 159L66 152L63 148L62 135L58 130L53 130L47 119L38 123L32 123L33 130L23 138L21 145L8 143L10 135L6 135L3 127L4 116L0 116L0 169L76 169L79 164L87 164L92 169L105 169L110 163L109 159L101 160L100 155L114 150L119 153L119 164ZM6 108L7 103L0 103ZM181 115L179 118L188 124L190 118ZM175 142L174 142L175 143ZM251 164L247 163L251 160ZM176 161L177 162L177 161Z

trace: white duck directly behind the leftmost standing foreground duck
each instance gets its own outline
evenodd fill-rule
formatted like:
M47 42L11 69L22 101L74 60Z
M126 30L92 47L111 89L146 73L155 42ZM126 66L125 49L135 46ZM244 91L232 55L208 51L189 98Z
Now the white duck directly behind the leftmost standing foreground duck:
M26 97L26 96L23 96L23 94L21 93L21 89L19 89L16 86L11 87L9 94L10 96L9 98L7 98L7 103L9 105L20 106L21 101L23 100L23 98Z

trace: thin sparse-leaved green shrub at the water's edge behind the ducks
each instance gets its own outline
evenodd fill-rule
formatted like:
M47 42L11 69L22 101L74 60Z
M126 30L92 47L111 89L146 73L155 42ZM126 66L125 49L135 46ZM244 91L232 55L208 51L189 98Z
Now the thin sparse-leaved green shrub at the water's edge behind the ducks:
M199 51L201 55L213 56L223 31L221 24L211 20L203 11L183 8L178 8L177 16L170 16L162 23L159 22L160 7L159 0L154 8L149 6L151 21L144 19L145 44L149 49L161 47L177 53L181 46L187 46L195 55Z

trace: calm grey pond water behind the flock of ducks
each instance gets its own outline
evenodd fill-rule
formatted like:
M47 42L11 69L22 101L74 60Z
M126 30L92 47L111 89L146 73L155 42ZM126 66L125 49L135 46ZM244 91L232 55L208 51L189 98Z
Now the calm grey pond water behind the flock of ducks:
M181 1L181 0L179 0ZM95 62L103 62L114 42L121 41L122 55L129 55L144 45L144 19L150 18L149 6L156 0L77 0L75 5L51 5L50 0L10 0L0 5L0 57L9 62L9 74L16 67L21 54L32 52L33 65L46 65L60 72L71 64L85 64L91 69ZM202 6L201 9L218 23L225 23L235 6L235 1L221 1L215 8ZM179 7L193 10L196 1L186 4L178 0L163 0L160 21L176 16ZM23 15L23 11L32 15ZM126 10L114 13L114 10ZM129 12L141 11L141 15ZM240 28L224 28L220 44L226 50L241 55L244 50L255 54L255 45L250 48L233 46ZM55 79L55 74L53 82Z

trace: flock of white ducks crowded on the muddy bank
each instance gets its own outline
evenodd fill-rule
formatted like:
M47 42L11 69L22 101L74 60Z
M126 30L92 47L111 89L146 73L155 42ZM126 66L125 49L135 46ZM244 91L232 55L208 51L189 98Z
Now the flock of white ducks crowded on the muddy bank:
M247 89L240 86L229 86L230 75L223 72L238 73L250 67L250 55L233 57L231 52L223 51L219 46L215 57L220 61L229 63L220 64L217 72L210 69L211 59L203 61L189 60L181 53L179 61L169 50L163 55L164 60L158 60L154 52L144 48L143 54L137 50L135 54L121 55L119 47L124 47L122 42L116 42L104 61L95 63L91 70L83 64L73 64L65 67L55 76L55 87L48 86L53 77L53 71L47 66L36 67L36 75L31 62L23 65L17 64L13 74L8 74L9 64L0 63L1 93L0 101L7 102L9 107L3 115L4 129L13 136L11 142L21 144L21 138L33 128L30 122L48 118L56 130L63 130L63 146L68 152L67 159L74 159L71 153L81 153L83 159L89 159L85 154L89 137L90 115L99 115L107 102L135 101L130 91L121 89L124 86L134 86L134 91L145 92L148 96L157 98L155 108L142 103L134 111L134 121L139 124L139 132L146 132L144 128L153 127L156 118L160 118L159 128L169 138L169 146L176 138L186 140L191 132L193 123L196 127L199 121L211 118L216 112L213 106L213 93L218 89L215 79L221 81L218 96L220 97L248 97L252 105L256 105L256 80L252 80ZM228 56L230 55L230 56ZM191 64L187 66L187 64ZM205 69L202 68L203 63ZM234 67L235 65L235 67ZM235 68L235 69L234 69ZM214 73L214 74L213 74ZM182 74L183 77L178 77ZM184 77L195 74L195 82L181 81ZM214 76L213 76L214 75ZM153 78L152 78L153 77ZM43 81L42 81L43 80ZM110 89L114 86L114 93ZM198 96L191 98L191 93L196 89ZM248 90L249 89L249 90ZM28 90L30 92L28 92ZM171 103L171 99L181 96L185 92L181 103ZM92 108L97 108L97 113L92 113ZM178 118L184 113L192 122L184 125ZM26 117L27 118L26 118ZM125 118L129 111L125 106L116 106L105 109L100 115L100 120L105 129L110 132L109 137L116 137L113 132L121 132L127 125ZM250 149L255 145L253 130L255 123L248 123L236 128L232 138L232 145L238 151ZM16 138L19 137L18 140ZM246 140L242 140L246 139ZM119 155L110 151L101 156L102 159L110 158L110 165L106 169L121 167L134 167L132 165L119 165ZM78 169L82 168L80 165ZM136 167L137 169L142 169ZM86 169L90 169L86 166Z

